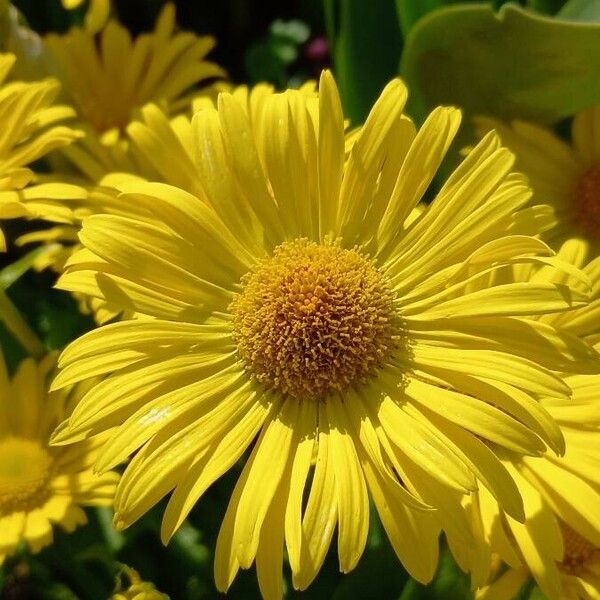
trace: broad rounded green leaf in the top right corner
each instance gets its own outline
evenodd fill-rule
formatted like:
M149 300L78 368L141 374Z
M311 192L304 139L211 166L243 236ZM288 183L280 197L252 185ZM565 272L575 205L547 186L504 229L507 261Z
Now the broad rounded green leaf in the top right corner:
M600 25L541 17L507 4L446 7L406 40L401 72L410 109L422 119L438 104L467 115L547 123L600 102Z

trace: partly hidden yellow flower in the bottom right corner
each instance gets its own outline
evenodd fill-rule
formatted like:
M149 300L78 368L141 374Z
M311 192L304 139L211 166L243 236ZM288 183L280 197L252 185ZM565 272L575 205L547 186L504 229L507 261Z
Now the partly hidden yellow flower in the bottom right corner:
M549 600L597 600L600 596L600 384L596 383L594 393L595 402L589 408L595 414L595 429L585 427L586 413L591 411L564 406L571 413L580 412L579 423L572 427L561 423L567 436L564 459L528 459L520 467L514 465L519 469L517 483L528 513L525 524L507 516L504 528L498 520L487 521L483 515L495 507L488 500L482 503L486 533L500 548L508 569L492 577L477 592L477 600L513 600L530 576ZM578 402L577 393L573 402Z

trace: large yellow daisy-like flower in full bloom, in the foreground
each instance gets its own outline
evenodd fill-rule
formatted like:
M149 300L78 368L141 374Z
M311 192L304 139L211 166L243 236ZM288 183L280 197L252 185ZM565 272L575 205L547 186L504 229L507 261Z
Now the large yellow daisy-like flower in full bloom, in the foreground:
M504 265L552 263L552 252L524 235L537 232L520 211L530 190L494 134L415 212L460 113L438 108L417 131L406 98L392 81L346 157L328 72L318 96L269 95L258 119L221 94L192 121L203 194L123 182L129 216L86 219L85 248L59 281L151 317L75 341L53 384L103 378L53 443L115 427L97 467L134 454L115 498L119 528L174 490L168 541L249 451L217 541L220 590L256 561L263 595L281 597L284 544L305 589L336 529L340 569L352 570L369 496L401 561L428 581L439 513L468 535L464 495L489 489L523 519L492 448L560 449L536 400L570 394L551 368L597 367L585 344L522 320L585 305L585 293L544 282L471 292Z

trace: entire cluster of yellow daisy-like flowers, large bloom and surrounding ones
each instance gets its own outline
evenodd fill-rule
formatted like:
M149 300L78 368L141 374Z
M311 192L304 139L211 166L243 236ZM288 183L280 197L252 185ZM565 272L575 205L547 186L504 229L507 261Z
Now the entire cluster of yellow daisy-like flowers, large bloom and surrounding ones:
M46 222L16 243L100 325L51 385L52 358L0 365L0 559L165 496L168 543L242 463L223 592L255 565L281 598L284 557L306 589L334 536L351 571L376 511L420 582L444 534L478 598L598 598L600 107L572 146L478 120L425 203L457 108L417 127L396 79L349 131L328 71L233 87L173 5L135 39L109 15L45 39L65 105L0 56L0 218Z

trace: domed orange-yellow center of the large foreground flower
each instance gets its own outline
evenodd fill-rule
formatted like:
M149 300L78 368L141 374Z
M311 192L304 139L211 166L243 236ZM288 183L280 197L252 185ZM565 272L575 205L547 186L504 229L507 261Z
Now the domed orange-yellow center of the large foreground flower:
M320 400L365 381L397 345L393 294L356 249L285 242L241 283L230 307L239 355L284 395Z

